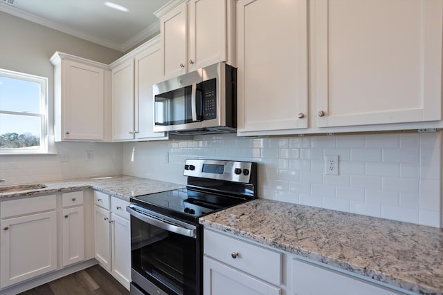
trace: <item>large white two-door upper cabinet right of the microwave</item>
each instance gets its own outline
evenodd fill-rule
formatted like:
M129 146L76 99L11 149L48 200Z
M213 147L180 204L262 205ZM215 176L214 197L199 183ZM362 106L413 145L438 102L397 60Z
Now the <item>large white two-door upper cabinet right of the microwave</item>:
M442 0L239 0L237 28L239 135L443 127Z

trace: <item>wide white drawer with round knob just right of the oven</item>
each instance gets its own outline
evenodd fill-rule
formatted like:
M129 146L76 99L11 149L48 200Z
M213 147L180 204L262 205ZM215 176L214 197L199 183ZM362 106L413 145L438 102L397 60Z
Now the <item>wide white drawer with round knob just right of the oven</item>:
M278 251L205 229L204 253L274 285L282 280L282 254Z

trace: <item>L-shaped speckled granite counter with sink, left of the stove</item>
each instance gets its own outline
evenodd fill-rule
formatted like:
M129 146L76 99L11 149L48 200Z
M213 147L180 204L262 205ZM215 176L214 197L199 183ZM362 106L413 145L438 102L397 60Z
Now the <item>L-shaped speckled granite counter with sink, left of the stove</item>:
M147 193L157 193L159 191L169 191L184 187L181 184L149 180L146 178L136 178L126 175L116 175L109 178L80 178L73 180L60 180L55 182L42 182L46 187L43 189L30 189L27 191L15 191L10 193L0 193L0 200L5 198L15 198L24 196L35 196L42 193L57 193L63 191L75 191L79 189L95 189L111 196L129 200L134 196L141 196Z

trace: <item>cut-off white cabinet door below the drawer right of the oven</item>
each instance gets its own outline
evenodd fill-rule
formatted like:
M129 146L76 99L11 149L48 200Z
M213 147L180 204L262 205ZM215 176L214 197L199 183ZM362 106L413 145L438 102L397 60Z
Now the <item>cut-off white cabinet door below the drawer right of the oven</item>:
M203 289L207 295L280 295L281 289L216 260L203 259Z

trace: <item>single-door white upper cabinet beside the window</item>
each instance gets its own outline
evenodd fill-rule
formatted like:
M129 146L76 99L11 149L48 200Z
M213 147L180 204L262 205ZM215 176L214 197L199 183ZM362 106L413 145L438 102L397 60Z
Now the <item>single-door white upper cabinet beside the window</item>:
M109 140L109 66L56 52L54 66L55 141Z

